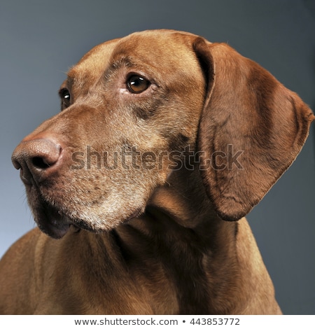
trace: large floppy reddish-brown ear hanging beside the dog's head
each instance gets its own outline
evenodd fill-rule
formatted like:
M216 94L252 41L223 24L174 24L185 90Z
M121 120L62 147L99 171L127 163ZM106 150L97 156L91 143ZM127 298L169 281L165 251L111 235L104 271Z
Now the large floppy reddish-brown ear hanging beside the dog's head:
M230 46L198 38L194 50L207 80L198 137L202 179L218 215L235 221L295 160L314 116L297 94Z

